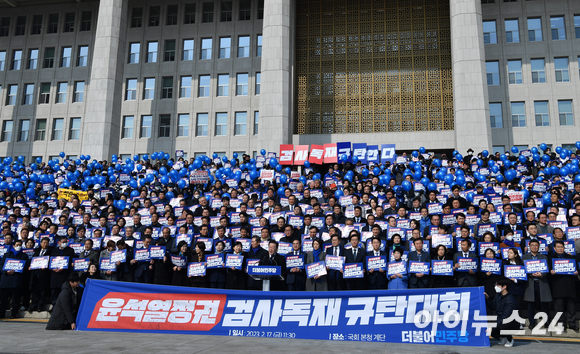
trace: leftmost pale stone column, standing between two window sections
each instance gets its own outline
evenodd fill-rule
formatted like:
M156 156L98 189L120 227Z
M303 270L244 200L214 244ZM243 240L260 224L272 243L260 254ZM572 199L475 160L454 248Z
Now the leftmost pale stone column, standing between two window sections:
M119 150L127 0L100 0L81 153L109 160Z

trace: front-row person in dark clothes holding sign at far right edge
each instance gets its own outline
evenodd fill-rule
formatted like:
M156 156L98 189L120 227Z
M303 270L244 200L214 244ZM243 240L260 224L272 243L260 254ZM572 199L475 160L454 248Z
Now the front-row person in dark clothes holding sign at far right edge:
M552 298L554 299L554 311L563 312L561 318L564 328L568 327L573 331L578 330L576 324L576 311L574 301L576 300L576 260L573 256L564 252L564 242L554 241L554 254L550 257L548 264L552 265L550 278L552 280ZM565 260L570 260L566 262ZM562 264L563 267L557 267ZM564 318L565 316L565 318Z

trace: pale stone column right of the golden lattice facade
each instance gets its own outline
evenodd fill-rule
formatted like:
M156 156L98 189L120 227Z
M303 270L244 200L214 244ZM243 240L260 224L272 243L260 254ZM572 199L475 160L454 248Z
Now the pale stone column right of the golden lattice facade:
M450 0L455 146L492 149L481 1Z

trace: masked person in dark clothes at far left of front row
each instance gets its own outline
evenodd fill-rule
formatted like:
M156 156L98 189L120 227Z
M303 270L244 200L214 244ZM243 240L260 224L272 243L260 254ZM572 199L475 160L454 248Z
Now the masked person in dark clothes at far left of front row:
M24 272L28 269L28 256L22 252L22 240L14 241L14 245L8 248L4 256L0 260L0 269L4 268L4 263L7 259L18 259L26 261L22 273L14 270L2 271L0 277L0 318L4 318L6 308L8 307L8 299L12 297L12 311L10 318L16 318L20 310L20 295L24 289Z

